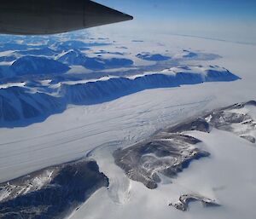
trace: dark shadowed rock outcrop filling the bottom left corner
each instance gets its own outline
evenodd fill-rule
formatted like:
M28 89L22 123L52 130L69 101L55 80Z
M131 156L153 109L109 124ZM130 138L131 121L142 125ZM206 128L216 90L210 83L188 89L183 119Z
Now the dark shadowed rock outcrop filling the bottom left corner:
M0 184L0 218L64 218L100 187L108 178L93 160L38 170Z

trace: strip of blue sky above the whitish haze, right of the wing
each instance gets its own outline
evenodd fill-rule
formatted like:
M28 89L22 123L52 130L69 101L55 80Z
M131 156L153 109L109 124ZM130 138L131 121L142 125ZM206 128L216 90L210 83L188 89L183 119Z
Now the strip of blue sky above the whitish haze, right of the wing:
M256 20L255 0L98 0L136 17Z

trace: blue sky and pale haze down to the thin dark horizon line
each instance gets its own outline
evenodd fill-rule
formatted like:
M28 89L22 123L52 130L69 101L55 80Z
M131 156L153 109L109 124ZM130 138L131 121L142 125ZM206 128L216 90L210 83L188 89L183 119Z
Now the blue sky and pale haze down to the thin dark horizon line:
M125 28L256 43L256 0L96 0L135 17Z

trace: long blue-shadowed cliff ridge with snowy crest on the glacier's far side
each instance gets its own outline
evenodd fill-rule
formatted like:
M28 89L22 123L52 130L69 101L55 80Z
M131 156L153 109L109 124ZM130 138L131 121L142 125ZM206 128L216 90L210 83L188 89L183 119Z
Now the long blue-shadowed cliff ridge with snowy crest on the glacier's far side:
M30 71L27 67L29 65L26 65L26 71ZM32 68L34 67L38 68L37 63L32 64ZM33 123L33 119L41 120L51 114L63 112L68 104L90 105L112 101L144 89L236 79L236 75L224 68L198 66L195 69L169 69L166 72L145 73L127 78L106 77L66 82L53 77L49 84L40 80L27 81L23 86L14 85L0 89L0 126L19 126L16 122L24 119L30 119L27 122Z

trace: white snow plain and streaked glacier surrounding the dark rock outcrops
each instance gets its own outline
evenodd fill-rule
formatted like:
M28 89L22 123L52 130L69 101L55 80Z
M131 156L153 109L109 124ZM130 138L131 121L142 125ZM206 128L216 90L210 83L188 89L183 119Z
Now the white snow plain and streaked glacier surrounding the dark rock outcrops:
M256 147L229 132L188 132L203 141L201 147L210 152L211 157L195 161L171 184L163 183L154 190L129 180L113 163L112 152L117 147L128 147L156 130L214 108L256 100L255 46L195 37L163 35L157 38L161 38L164 46L160 47L159 42L152 39L132 42L128 37L127 41L122 37L122 44L116 46L125 45L134 54L141 52L140 47L150 48L154 53L168 49L170 55L182 49L217 54L222 58L187 62L224 66L241 80L148 89L92 106L69 106L65 112L50 116L42 123L1 128L0 182L90 152L100 170L108 176L110 186L92 195L73 212L72 219L254 218ZM251 113L255 118L255 111ZM218 199L221 207L203 208L195 203L190 205L189 211L182 212L168 206L183 193L200 193Z

